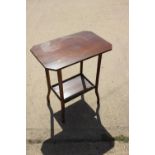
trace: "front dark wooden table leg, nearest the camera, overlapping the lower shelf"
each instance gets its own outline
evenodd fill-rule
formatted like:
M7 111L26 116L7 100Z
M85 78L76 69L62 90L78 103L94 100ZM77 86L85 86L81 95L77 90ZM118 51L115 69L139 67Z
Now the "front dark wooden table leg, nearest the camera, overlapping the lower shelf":
M57 71L57 76L58 76L60 98L61 98L61 119L62 119L62 123L65 123L65 102L64 102L64 93L63 93L61 69Z

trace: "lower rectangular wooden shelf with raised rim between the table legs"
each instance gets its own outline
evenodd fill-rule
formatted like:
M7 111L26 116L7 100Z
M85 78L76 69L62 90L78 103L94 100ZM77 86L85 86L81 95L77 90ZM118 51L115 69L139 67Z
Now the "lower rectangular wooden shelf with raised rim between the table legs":
M64 92L64 100L69 101L91 89L95 86L84 76L78 74L74 77L71 77L67 80L63 81L63 92ZM60 98L59 85L55 84L52 86L52 90Z

